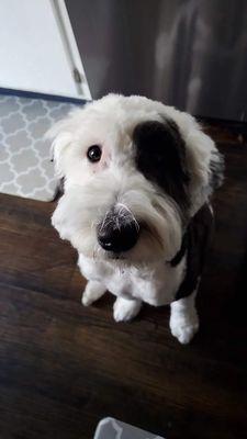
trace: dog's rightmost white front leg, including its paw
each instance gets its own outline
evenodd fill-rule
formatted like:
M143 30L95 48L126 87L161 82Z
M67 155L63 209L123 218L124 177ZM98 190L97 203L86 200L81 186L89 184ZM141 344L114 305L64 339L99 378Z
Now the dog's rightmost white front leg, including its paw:
M188 344L199 329L199 317L194 306L197 291L170 305L170 330L181 344Z

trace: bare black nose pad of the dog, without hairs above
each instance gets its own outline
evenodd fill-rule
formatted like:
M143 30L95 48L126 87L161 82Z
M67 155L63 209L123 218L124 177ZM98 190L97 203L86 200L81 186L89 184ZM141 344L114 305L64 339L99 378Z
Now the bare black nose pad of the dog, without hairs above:
M136 222L117 225L113 222L106 227L99 227L98 241L104 250L120 254L134 247L138 235L139 227Z

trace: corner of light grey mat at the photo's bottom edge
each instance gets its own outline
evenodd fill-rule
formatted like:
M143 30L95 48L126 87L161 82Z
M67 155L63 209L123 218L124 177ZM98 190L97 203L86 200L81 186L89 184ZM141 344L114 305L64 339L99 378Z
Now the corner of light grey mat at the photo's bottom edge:
M165 439L161 436L141 430L114 418L102 419L96 430L94 439Z

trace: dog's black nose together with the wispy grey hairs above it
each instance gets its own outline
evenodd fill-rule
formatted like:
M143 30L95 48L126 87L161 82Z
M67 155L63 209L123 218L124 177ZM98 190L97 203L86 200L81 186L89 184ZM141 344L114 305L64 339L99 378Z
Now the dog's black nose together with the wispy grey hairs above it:
M100 246L105 251L121 254L131 250L137 243L139 236L139 225L123 209L113 209L98 226L97 238Z

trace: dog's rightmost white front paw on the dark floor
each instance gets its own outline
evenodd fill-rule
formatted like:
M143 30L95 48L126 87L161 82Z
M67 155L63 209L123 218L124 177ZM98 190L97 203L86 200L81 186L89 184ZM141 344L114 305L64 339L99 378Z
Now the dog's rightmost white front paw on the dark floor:
M173 337L176 337L180 344L187 345L193 338L194 334L199 329L198 315L193 316L172 316L170 318L170 330Z

